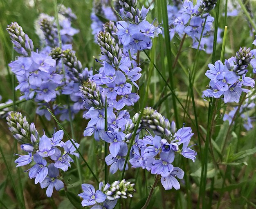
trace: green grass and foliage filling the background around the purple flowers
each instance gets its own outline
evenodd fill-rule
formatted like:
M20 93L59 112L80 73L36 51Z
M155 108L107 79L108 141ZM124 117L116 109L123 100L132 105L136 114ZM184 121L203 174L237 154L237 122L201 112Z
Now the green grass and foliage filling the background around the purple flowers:
M99 69L100 48L94 42L91 35L92 0L58 1L66 7L71 7L78 19L73 26L80 30L74 37L73 49L83 66ZM150 0L139 0L139 5L150 4ZM160 35L153 40L150 51L140 52L142 76L139 80L139 102L130 111L132 117L136 112L141 112L144 107L154 107L170 121L175 120L177 127L192 127L194 136L191 145L198 153L195 163L181 157L175 158L174 166L181 167L184 172L184 180L179 180L181 189L165 191L159 182L154 189L150 200L152 209L165 208L232 208L249 209L256 208L256 174L255 174L255 145L256 128L246 131L243 128L241 117L234 119L234 124L229 126L222 118L235 104L223 104L221 100L202 100L201 92L206 89L209 79L204 76L207 64L216 60L225 60L235 56L240 46L253 47L250 25L255 30L256 12L255 2L252 4L252 14L243 6L243 1L238 0L242 9L238 17L225 16L225 0L220 2L219 12L216 7L211 15L216 18L214 25L224 29L225 42L216 43L214 39L213 53L190 48L191 38L176 37L169 39L168 30L164 30L164 37ZM163 27L168 25L166 0L155 0L149 12L148 20L157 17ZM67 184L67 191L54 191L52 198L47 198L45 189L40 185L34 185L24 168L16 169L14 152L16 141L8 130L6 120L0 119L0 209L8 208L81 208L81 200L76 194L81 193L81 183L91 183L96 188L100 181L109 182L126 178L136 182L134 197L120 202L121 208L141 208L150 193L150 185L153 185L155 176L144 170L130 169L117 172L114 175L107 172L103 159L107 154L106 145L101 146L93 137L83 137L83 131L88 121L82 118L82 111L76 114L70 123L59 122L58 118L46 121L35 114L36 103L33 101L18 100L20 93L13 91L16 81L9 70L8 63L15 58L12 54L12 44L5 28L11 22L18 22L25 33L33 40L35 47L40 47L39 38L34 30L34 20L40 13L55 16L56 7L54 1L28 1L28 0L2 0L0 1L0 95L2 102L8 99L14 100L11 104L0 106L0 112L4 108L21 111L29 122L35 122L40 134L45 129L47 134L52 133L56 124L65 130L65 140L76 138L81 144L79 148L80 159L65 173L63 179ZM248 21L247 21L248 18ZM224 33L222 32L222 37ZM180 44L182 42L182 46ZM173 62L177 58L177 64ZM251 69L249 69L251 71ZM169 79L168 79L169 78ZM16 99L15 99L16 98ZM243 95L241 97L241 100ZM256 116L255 110L251 112ZM54 115L53 115L54 116ZM138 124L137 124L138 125ZM56 128L58 128L56 127ZM143 134L147 134L146 131ZM72 136L72 137L70 137ZM130 139L129 150L135 136ZM126 163L128 158L126 158ZM105 168L105 171L104 171ZM28 169L28 168L27 168ZM125 207L126 206L126 207ZM119 208L119 204L116 208Z

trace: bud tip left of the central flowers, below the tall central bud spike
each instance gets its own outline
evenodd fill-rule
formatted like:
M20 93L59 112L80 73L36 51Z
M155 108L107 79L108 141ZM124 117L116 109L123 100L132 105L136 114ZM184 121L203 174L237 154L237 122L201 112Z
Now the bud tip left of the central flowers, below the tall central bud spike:
M88 81L83 82L80 91L85 104L94 107L94 109L104 108L105 98L100 92L99 86L93 80L88 79Z

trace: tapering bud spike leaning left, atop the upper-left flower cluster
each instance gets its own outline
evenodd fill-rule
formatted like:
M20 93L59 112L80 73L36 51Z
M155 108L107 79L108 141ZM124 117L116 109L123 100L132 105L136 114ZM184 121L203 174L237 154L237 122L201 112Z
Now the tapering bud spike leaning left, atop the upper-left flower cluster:
M22 27L17 22L12 22L7 26L7 31L10 35L11 42L14 44L15 51L25 57L29 57L31 51L34 50L34 45L29 36L24 33Z

